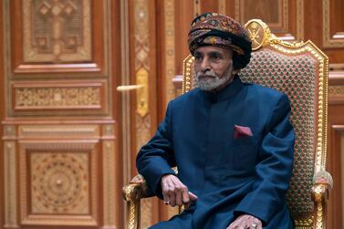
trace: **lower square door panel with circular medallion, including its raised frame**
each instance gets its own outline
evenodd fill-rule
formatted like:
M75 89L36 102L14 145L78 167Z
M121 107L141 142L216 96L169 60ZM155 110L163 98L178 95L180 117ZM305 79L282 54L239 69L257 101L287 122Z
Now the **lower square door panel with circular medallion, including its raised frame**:
M21 224L97 225L97 141L19 141Z

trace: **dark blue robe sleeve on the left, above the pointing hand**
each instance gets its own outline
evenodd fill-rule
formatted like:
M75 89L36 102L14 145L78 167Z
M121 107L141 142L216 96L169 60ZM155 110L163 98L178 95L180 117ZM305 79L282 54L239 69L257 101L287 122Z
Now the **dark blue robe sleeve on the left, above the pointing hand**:
M151 192L162 199L162 175L175 174L172 167L176 166L172 147L171 118L172 101L166 115L155 135L144 145L136 158L136 167L146 179Z

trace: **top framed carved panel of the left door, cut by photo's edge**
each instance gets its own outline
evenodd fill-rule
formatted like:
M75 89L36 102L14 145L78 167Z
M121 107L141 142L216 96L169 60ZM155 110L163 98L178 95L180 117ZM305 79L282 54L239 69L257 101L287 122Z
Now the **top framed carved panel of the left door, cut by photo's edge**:
M103 0L10 3L13 72L105 73Z

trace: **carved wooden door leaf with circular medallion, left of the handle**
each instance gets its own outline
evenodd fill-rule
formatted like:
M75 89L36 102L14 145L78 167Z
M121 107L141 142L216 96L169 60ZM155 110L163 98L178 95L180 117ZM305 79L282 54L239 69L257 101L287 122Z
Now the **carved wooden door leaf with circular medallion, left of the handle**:
M0 228L122 228L120 2L0 5Z

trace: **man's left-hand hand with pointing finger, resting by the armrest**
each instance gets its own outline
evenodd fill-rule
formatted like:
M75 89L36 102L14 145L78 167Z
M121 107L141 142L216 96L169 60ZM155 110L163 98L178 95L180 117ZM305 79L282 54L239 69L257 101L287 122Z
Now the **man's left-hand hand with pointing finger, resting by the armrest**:
M198 197L189 192L178 177L172 174L162 176L162 195L164 203L172 207L184 204L185 209L189 208L191 202L198 200Z

